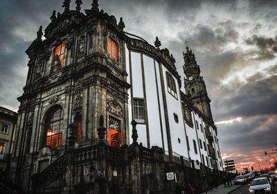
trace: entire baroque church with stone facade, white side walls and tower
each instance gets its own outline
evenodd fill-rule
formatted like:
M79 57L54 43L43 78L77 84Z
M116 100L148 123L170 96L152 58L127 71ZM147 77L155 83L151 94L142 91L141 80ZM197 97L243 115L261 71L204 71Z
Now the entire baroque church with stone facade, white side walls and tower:
M151 193L222 175L206 85L184 55L184 87L168 48L124 31L120 18L62 13L28 47L9 177L33 193ZM45 39L42 40L44 35ZM181 51L180 51L181 52ZM183 72L181 72L183 73Z

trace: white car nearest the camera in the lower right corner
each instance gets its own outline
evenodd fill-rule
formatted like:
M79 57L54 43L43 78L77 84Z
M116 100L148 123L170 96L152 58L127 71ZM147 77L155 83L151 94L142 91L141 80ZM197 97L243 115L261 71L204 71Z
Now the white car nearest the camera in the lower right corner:
M272 194L273 188L267 177L260 177L253 179L251 184L249 184L249 193L250 194Z

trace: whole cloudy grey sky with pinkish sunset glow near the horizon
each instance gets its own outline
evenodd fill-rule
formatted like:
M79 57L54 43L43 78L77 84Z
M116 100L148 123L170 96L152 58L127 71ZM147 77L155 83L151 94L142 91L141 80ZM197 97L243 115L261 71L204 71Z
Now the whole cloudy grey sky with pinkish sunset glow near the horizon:
M71 9L75 0L71 0ZM91 8L83 0L83 9ZM206 80L223 159L268 167L264 151L277 145L277 1L100 0L100 9L123 17L125 30L154 44L161 40L184 76L184 41ZM46 28L62 0L1 0L0 106L17 111L27 75L24 53L39 26ZM184 86L183 86L184 87ZM277 155L276 155L277 156Z

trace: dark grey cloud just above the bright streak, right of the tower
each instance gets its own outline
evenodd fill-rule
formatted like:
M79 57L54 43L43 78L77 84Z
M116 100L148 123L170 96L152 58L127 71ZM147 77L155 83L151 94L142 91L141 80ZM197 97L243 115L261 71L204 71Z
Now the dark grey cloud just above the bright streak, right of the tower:
M267 72L273 74L276 69L276 66L271 67ZM238 94L228 99L217 98L217 105L219 109L215 111L215 119L277 114L277 75L263 78L256 73L240 87Z

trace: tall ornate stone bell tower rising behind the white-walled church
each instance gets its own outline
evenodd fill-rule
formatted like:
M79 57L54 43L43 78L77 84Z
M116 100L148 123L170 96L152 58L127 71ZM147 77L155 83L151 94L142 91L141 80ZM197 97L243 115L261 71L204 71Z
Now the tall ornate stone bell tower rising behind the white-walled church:
M197 107L207 118L213 121L211 113L211 100L208 98L206 85L202 76L200 76L200 68L195 60L195 54L186 46L184 55L184 87L186 95L192 100L193 105Z

